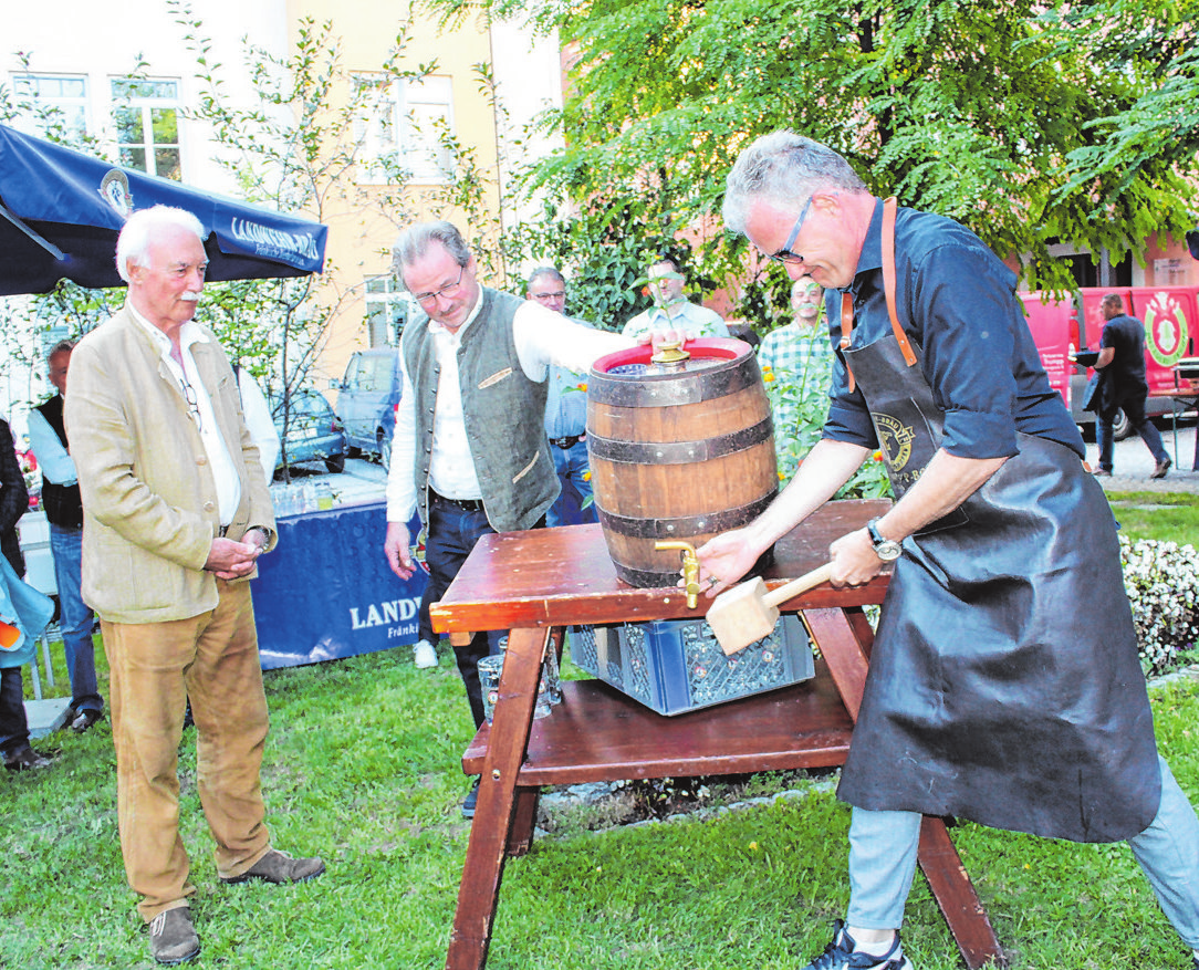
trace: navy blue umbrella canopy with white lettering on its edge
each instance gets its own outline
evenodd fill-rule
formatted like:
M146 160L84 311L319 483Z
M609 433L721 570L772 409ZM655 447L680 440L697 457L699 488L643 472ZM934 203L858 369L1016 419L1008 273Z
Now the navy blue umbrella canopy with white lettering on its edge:
M135 209L171 205L207 233L207 278L319 272L327 229L317 222L200 192L170 179L0 125L0 295L47 293L60 279L123 285L116 236Z

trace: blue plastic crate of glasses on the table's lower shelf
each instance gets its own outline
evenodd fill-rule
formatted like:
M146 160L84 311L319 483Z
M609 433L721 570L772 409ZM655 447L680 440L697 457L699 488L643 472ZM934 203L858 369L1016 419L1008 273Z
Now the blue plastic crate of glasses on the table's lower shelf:
M661 715L760 694L813 676L812 643L799 616L725 656L704 620L571 627L571 659Z

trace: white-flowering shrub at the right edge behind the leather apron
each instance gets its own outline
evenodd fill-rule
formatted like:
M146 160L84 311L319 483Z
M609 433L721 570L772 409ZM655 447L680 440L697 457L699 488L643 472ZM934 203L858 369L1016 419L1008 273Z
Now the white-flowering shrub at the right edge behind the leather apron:
M1146 675L1181 663L1199 640L1199 560L1193 546L1120 536L1125 590Z

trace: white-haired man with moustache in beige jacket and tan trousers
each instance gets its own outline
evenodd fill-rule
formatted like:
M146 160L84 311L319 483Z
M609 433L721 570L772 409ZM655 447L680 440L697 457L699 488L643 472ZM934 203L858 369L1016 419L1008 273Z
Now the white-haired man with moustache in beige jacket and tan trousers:
M295 882L320 858L271 848L259 783L266 698L249 577L275 514L237 382L192 320L204 230L189 212L135 212L116 249L125 307L71 359L66 426L83 496L83 596L110 669L118 819L129 885L165 964L200 951L179 835L187 698L197 784L225 882Z

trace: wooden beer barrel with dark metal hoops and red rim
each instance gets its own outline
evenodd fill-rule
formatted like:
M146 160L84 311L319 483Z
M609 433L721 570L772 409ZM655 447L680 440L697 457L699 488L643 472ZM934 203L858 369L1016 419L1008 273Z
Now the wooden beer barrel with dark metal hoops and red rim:
M588 453L596 512L616 574L673 586L677 550L757 518L778 492L770 400L749 344L712 338L655 363L649 347L596 361Z

